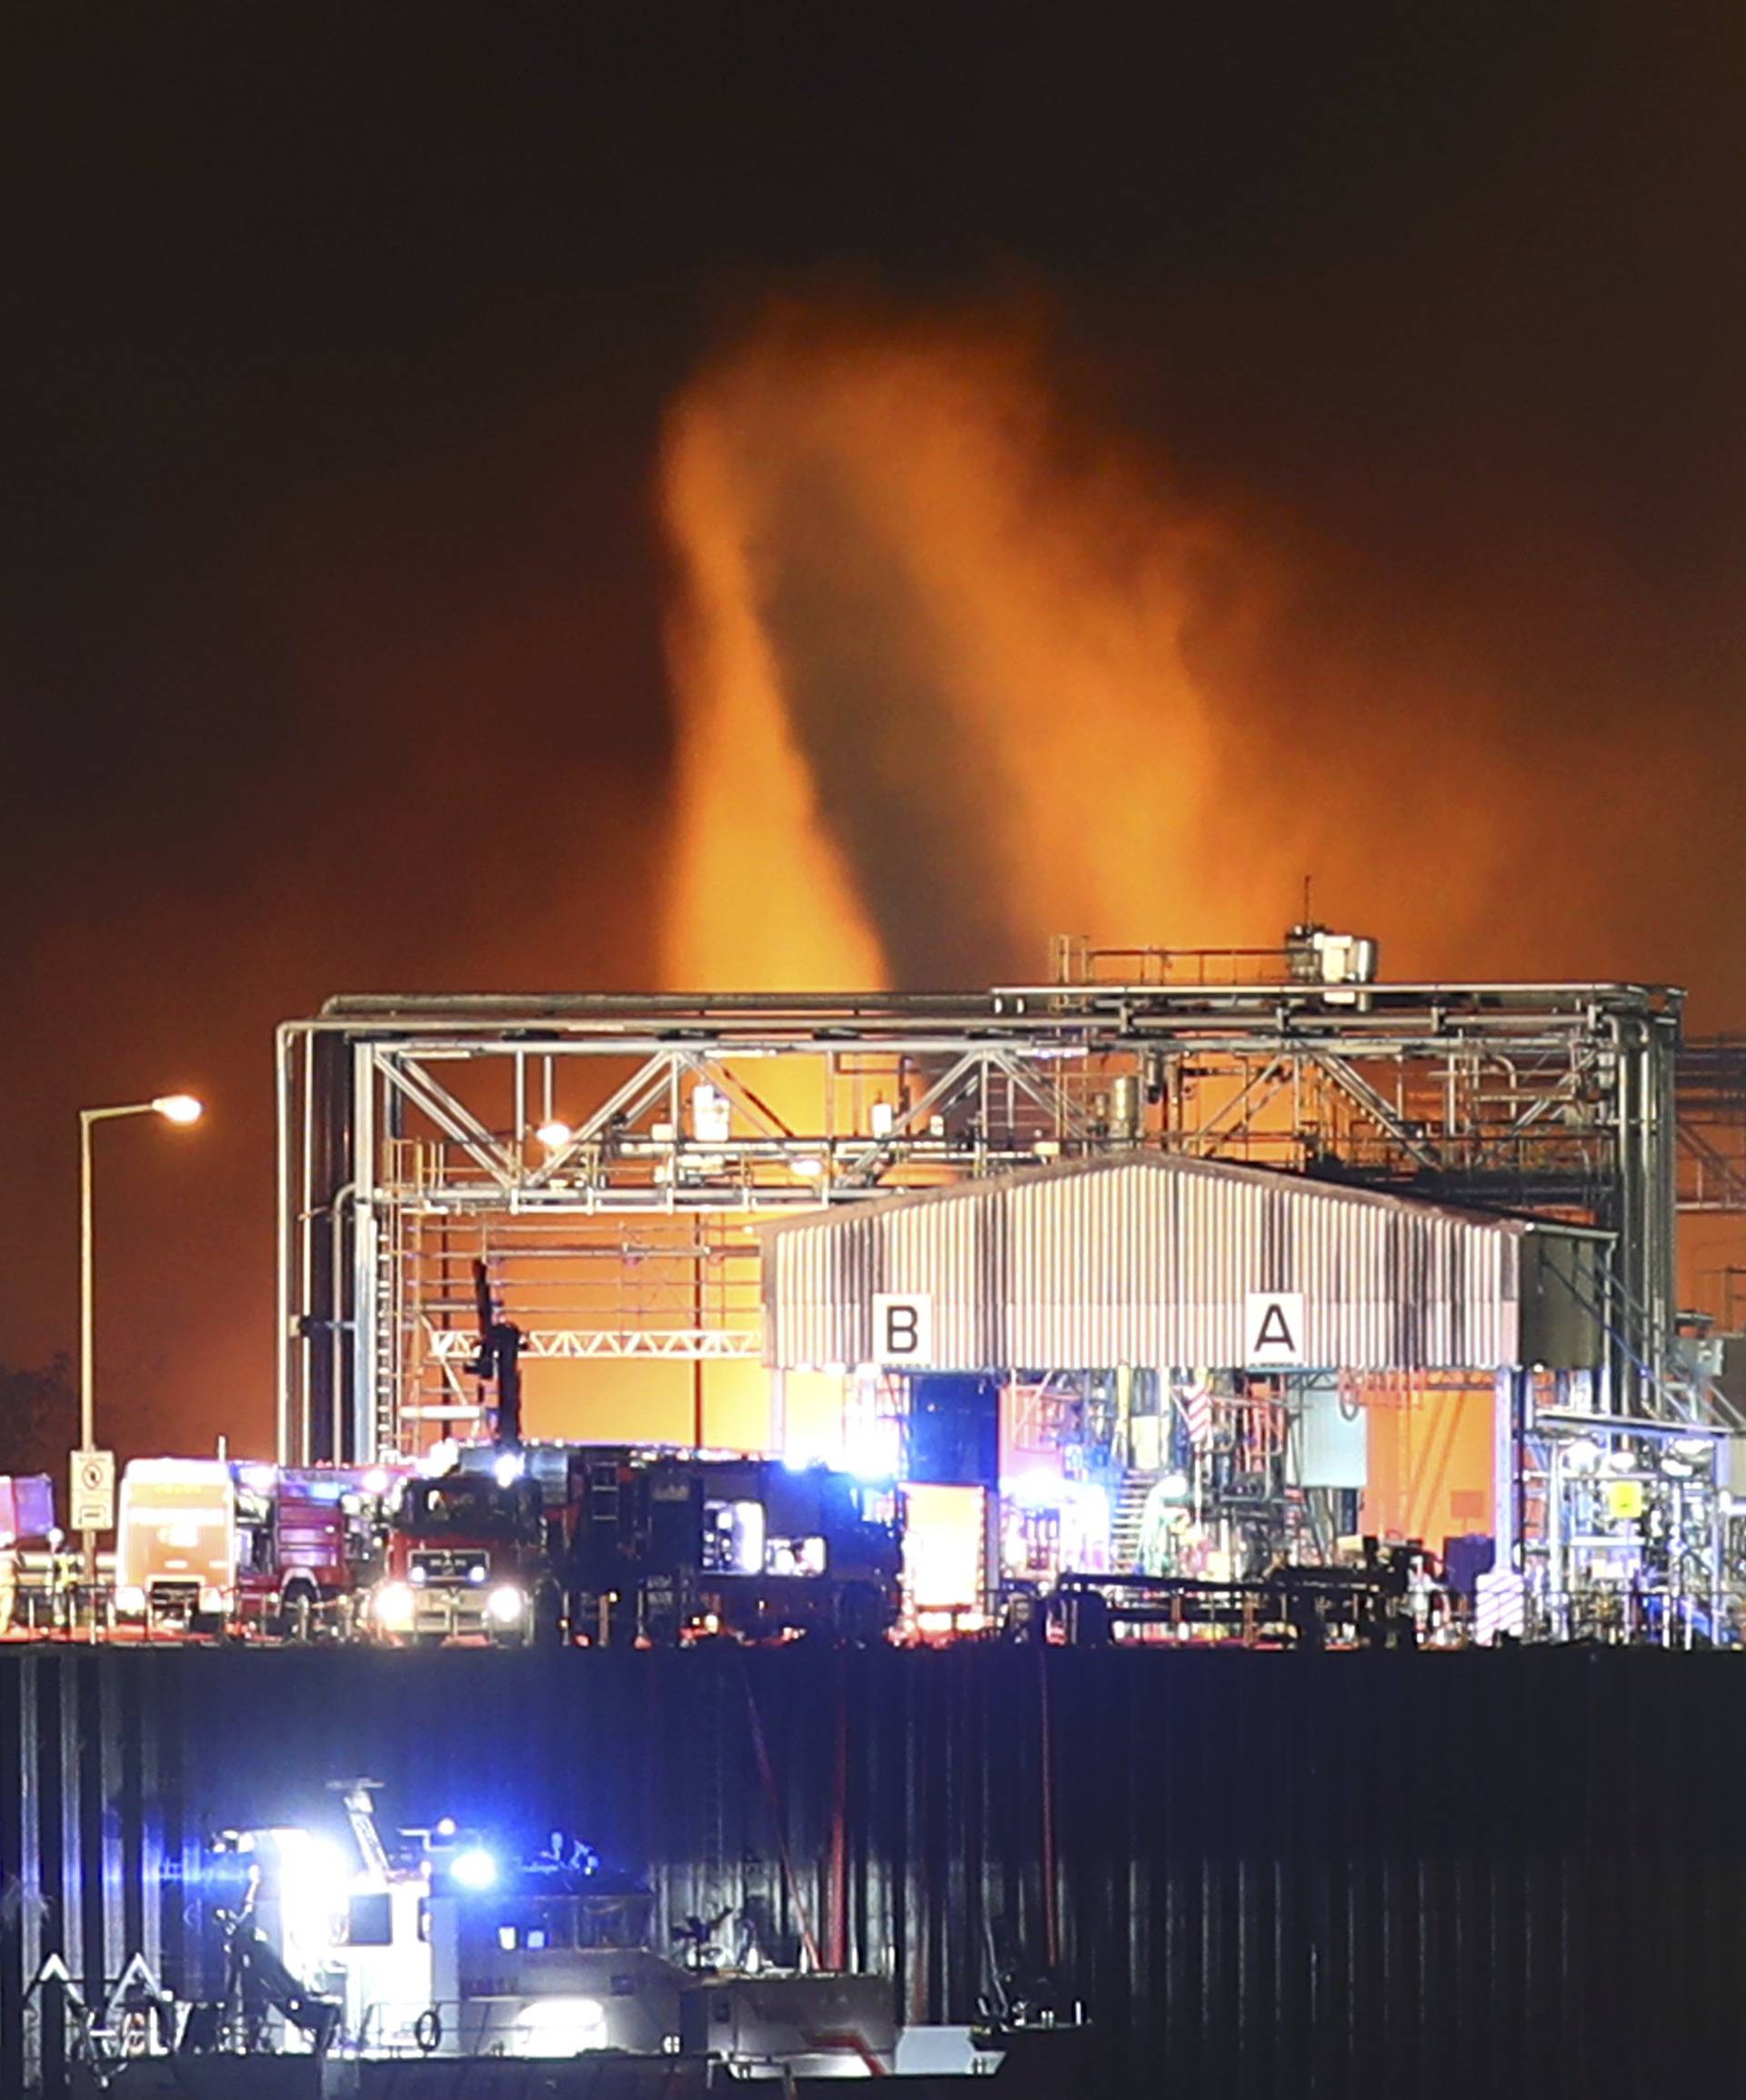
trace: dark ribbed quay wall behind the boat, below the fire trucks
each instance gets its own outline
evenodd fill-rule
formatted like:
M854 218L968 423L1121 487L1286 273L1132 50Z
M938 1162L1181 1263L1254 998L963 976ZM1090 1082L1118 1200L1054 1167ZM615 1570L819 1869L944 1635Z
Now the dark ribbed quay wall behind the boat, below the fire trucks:
M1668 2092L1746 2066L1742 1770L1731 1655L8 1651L0 2092L46 1951L199 1991L206 1833L353 1774L764 1911L911 2018L974 2012L991 1934L1053 1947L1146 2092Z

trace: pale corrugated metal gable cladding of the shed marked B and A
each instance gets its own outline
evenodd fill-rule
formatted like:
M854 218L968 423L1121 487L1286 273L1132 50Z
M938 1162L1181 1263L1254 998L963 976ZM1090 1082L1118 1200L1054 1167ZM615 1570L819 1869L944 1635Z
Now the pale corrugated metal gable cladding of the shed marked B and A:
M1538 1220L1127 1153L764 1226L764 1361L877 1361L873 1300L896 1294L928 1302L917 1369L1238 1369L1253 1296L1301 1294L1305 1367L1589 1369L1607 1256Z

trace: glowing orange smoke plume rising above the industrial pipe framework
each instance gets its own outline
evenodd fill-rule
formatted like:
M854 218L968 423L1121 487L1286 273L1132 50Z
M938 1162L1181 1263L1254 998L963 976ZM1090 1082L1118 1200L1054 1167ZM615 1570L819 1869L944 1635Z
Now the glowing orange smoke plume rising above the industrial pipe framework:
M774 309L674 407L663 506L667 983L1272 945L1312 869L1396 970L1500 966L1503 827L1446 794L1477 785L1473 680L1391 662L1377 609L1320 620L1284 533L1066 407L1032 330Z

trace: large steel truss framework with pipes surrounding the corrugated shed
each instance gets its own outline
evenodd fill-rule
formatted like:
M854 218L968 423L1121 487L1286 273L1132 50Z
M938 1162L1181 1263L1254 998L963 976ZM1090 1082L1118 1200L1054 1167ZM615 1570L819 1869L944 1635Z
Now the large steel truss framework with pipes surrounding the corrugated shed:
M1628 1359L1654 1365L1679 1006L1205 974L334 1000L277 1046L281 1449L407 1449L462 1407L478 1256L535 1359L747 1361L755 1220L1131 1147L1616 1231Z

